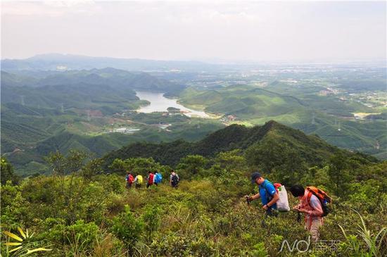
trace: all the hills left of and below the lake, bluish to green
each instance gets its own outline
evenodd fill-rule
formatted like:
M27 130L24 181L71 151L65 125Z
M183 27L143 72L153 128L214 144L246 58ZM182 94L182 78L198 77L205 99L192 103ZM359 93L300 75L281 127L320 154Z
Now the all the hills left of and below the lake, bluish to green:
M27 74L25 74L27 73ZM134 89L178 93L184 86L125 70L1 72L1 152L18 175L48 173L42 156L78 149L97 156L133 142L189 141L224 127L184 115L136 113ZM167 130L160 125L172 123ZM121 127L134 128L125 134Z

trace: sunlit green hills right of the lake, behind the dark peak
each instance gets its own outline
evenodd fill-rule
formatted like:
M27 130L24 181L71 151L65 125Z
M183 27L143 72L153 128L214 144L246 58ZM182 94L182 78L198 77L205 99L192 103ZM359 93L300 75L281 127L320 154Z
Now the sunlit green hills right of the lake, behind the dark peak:
M378 83L379 86L385 84ZM310 82L293 85L277 80L263 88L241 84L218 89L190 87L180 94L180 102L210 113L222 113L226 124L262 125L276 120L307 134L318 134L330 144L344 149L385 156L385 121L379 115L371 116L372 120L355 120L353 114L377 113L382 107L364 106L354 99L345 99L348 94L340 94L343 90L340 87L326 87ZM321 95L321 92L328 92L328 95ZM232 116L231 120L228 115Z

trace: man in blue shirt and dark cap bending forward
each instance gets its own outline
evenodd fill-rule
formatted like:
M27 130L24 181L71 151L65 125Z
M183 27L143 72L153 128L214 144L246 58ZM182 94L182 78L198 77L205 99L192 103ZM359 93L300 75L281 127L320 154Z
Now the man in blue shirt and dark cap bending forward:
M248 201L253 201L255 199L260 198L262 201L262 208L266 211L266 217L267 216L277 216L276 210L277 210L277 201L279 199L279 194L277 193L276 189L274 188L274 185L272 182L269 182L269 180L265 180L264 177L260 175L260 173L253 173L251 174L251 182L253 184L257 184L259 188L258 194L255 194L253 196L246 196Z

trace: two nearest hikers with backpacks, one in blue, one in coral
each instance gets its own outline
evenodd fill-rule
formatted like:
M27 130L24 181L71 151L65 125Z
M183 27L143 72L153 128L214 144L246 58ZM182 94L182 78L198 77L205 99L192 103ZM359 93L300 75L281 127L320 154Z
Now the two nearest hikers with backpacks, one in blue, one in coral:
M246 196L248 203L260 198L266 216L277 216L277 211L290 211L283 185L265 180L258 172L251 175L251 182L258 185L259 192L253 196ZM300 222L300 213L304 213L305 229L310 232L312 240L317 242L319 227L323 224L323 217L329 213L327 204L331 203L331 198L317 187L304 188L299 184L294 184L290 192L300 200L300 203L293 207L293 210L298 211L298 221Z

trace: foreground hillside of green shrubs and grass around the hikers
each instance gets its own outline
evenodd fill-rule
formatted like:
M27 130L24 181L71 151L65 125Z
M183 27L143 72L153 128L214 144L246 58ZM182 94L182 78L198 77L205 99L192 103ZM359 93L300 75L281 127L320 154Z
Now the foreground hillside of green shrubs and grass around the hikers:
M248 146L253 138L257 144ZM229 151L225 141L240 144ZM293 147L288 149L288 144ZM186 149L189 146L186 143ZM248 206L243 197L257 190L249 175L259 168L269 180L287 187L293 182L315 185L333 196L333 213L325 218L321 237L341 243L336 252L311 246L305 256L386 255L387 162L340 151L278 123L253 129L233 125L196 146L203 146L202 153L208 155L184 154L173 165L167 159L169 166L115 152L115 159L103 168L106 159L80 151L68 156L51 153L45 159L52 175L1 185L2 229L34 232L30 244L51 249L39 256L296 256L299 253L280 249L284 239L289 244L307 240L297 214L279 213L262 225L265 212L260 203ZM310 156L312 148L307 146L315 147ZM163 144L147 149L155 147L167 149ZM310 158L315 155L319 158ZM125 189L127 169L143 176L158 170L167 179L171 168L182 178L177 189L167 181L149 189ZM290 195L289 200L291 206L297 202ZM9 239L1 235L2 242ZM1 254L7 256L4 244Z

